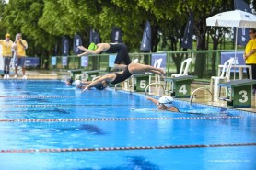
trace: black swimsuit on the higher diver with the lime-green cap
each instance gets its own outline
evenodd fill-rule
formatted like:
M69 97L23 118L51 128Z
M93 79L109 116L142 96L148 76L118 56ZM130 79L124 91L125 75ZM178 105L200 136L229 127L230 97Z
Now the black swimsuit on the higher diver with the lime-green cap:
M124 62L125 65L129 65L131 63L131 60L128 55L127 46L122 43L118 44L110 44L110 49L108 49L106 52L108 53L117 53L115 63L120 64L121 62Z

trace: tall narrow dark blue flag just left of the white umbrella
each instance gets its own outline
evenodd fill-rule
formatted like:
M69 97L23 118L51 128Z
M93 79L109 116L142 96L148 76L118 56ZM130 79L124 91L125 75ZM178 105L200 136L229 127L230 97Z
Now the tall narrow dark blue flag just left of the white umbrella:
M184 36L181 42L182 48L192 49L192 36L193 36L193 12L190 13L190 17L184 31Z

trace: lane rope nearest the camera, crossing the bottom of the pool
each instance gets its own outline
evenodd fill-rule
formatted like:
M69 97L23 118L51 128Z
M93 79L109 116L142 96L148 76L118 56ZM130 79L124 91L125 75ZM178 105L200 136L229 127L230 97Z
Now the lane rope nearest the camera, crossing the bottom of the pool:
M159 149L189 149L209 147L241 147L256 146L256 143L224 143L224 144L192 144L164 146L128 146L128 147L99 147L99 148L48 148L48 149L7 149L0 153L61 153L61 152L91 152L91 151L125 151L125 150L159 150Z

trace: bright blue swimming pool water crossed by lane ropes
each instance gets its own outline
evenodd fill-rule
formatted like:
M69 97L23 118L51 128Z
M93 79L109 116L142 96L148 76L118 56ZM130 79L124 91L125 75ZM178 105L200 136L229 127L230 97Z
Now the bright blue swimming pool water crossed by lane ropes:
M145 96L0 81L0 169L255 169L256 116ZM193 114L189 114L193 113Z

